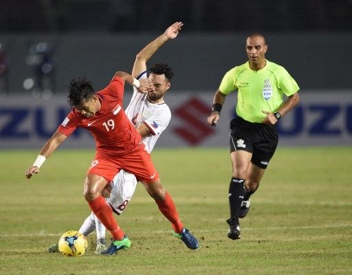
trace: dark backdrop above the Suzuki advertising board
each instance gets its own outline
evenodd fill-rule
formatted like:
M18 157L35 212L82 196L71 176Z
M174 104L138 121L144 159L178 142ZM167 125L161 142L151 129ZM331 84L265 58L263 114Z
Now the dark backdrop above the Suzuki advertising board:
M175 90L217 89L246 61L253 32L301 89L352 86L352 0L1 0L0 91L62 92L81 74L102 88L115 71L131 72L135 54L175 21L185 24L181 34L151 60L173 67ZM38 43L46 52L33 52ZM28 57L38 54L42 63ZM30 89L27 78L35 80Z

